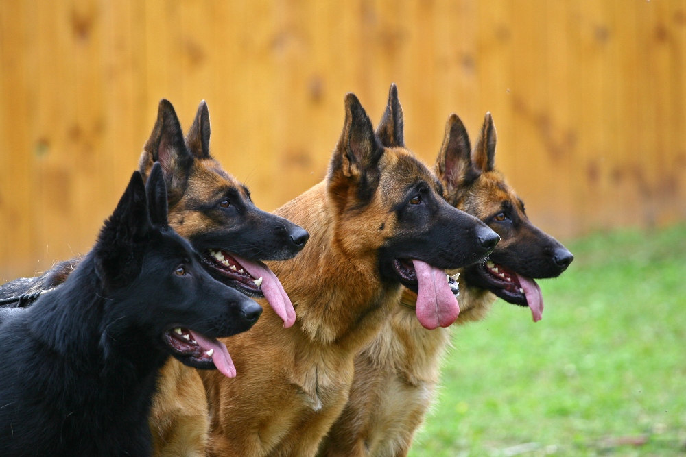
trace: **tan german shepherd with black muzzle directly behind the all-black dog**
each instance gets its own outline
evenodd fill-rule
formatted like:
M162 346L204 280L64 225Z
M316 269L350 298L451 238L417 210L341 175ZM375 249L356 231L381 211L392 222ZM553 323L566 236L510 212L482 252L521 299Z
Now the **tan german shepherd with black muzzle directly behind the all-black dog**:
M292 258L303 249L309 234L302 227L255 207L248 188L226 173L210 156L209 142L209 111L204 101L184 138L174 107L162 100L152 134L141 154L139 171L147 179L154 162L160 162L167 184L171 227L191 242L201 256L201 264L215 279L250 297L266 297L288 327L295 320L293 306L274 273L260 260ZM57 286L79 261L62 262L40 277L5 284L0 288L0 296L10 297ZM187 354L186 365L207 365L204 360L207 351L201 350L206 342L195 341L186 329L174 337L176 346ZM223 346L204 349L211 351L212 362L222 375L235 375L233 362ZM209 426L204 394L199 399L192 395L169 399L177 392L185 391L186 383L200 382L196 370L184 368L176 360L165 365L160 393L152 410L152 416L158 419L153 421L156 424L162 422L160 418L176 417L173 423L175 436L183 440L167 439L163 430L168 432L169 424L164 428L153 427L153 439L156 449L166 455L186 455L190 449L198 449L198 455L204 455L202 440ZM189 393L193 391L189 390Z

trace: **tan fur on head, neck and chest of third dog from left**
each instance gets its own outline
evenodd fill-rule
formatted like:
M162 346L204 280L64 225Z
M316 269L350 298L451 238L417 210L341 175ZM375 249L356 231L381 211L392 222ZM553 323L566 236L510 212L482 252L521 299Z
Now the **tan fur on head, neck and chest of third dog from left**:
M397 304L400 286L382 284L377 266L377 249L394 233L390 208L417 180L440 190L412 153L387 148L378 186L361 204L355 182L366 159L348 158L359 133L351 134L350 97L327 180L276 210L310 234L296 258L269 264L296 307L295 325L283 329L262 300L255 327L224 340L237 377L198 371L202 385L188 386L185 395L207 396L210 456L314 456L347 402L355 355Z

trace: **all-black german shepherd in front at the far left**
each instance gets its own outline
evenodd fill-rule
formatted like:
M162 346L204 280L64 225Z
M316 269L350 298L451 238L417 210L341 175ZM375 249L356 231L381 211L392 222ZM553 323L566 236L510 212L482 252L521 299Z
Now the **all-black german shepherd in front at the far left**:
M0 310L0 455L150 455L147 416L165 360L226 371L216 338L248 330L261 312L167 225L161 167L147 197L134 172L66 282L29 308Z

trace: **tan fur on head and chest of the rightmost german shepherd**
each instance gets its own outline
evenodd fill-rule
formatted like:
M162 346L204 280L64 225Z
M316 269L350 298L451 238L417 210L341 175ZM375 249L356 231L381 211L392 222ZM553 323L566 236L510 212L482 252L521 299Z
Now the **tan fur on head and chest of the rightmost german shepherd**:
M462 179L469 175L464 164L456 164L456 175L442 174L445 148L449 140L455 140L449 138L449 133L453 123L459 122L456 119L456 116L455 119L451 117L448 122L442 153L436 164L436 172L448 189L449 203L480 219L497 212L503 201L512 202L523 214L517 195L498 171L481 171L473 182ZM482 138L473 151L478 166L488 164L484 138L495 136L495 130L488 132L489 128L493 129L493 124L487 115ZM464 277L458 282L460 315L456 325L486 317L495 295L483 288L469 286ZM416 293L404 289L381 332L355 358L355 380L348 404L324 439L318 455L407 455L414 433L434 399L440 381L440 362L451 341L451 329L426 330L421 326L414 310L416 298Z

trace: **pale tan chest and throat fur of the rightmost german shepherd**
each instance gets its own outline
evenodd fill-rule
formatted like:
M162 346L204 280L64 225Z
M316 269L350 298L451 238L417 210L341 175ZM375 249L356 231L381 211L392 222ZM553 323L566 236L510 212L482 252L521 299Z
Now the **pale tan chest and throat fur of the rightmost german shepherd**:
M460 284L457 325L481 319L495 295ZM416 295L403 293L412 303ZM440 382L440 362L451 330L426 330L414 309L397 305L381 332L355 358L348 404L331 428L320 456L405 455Z

